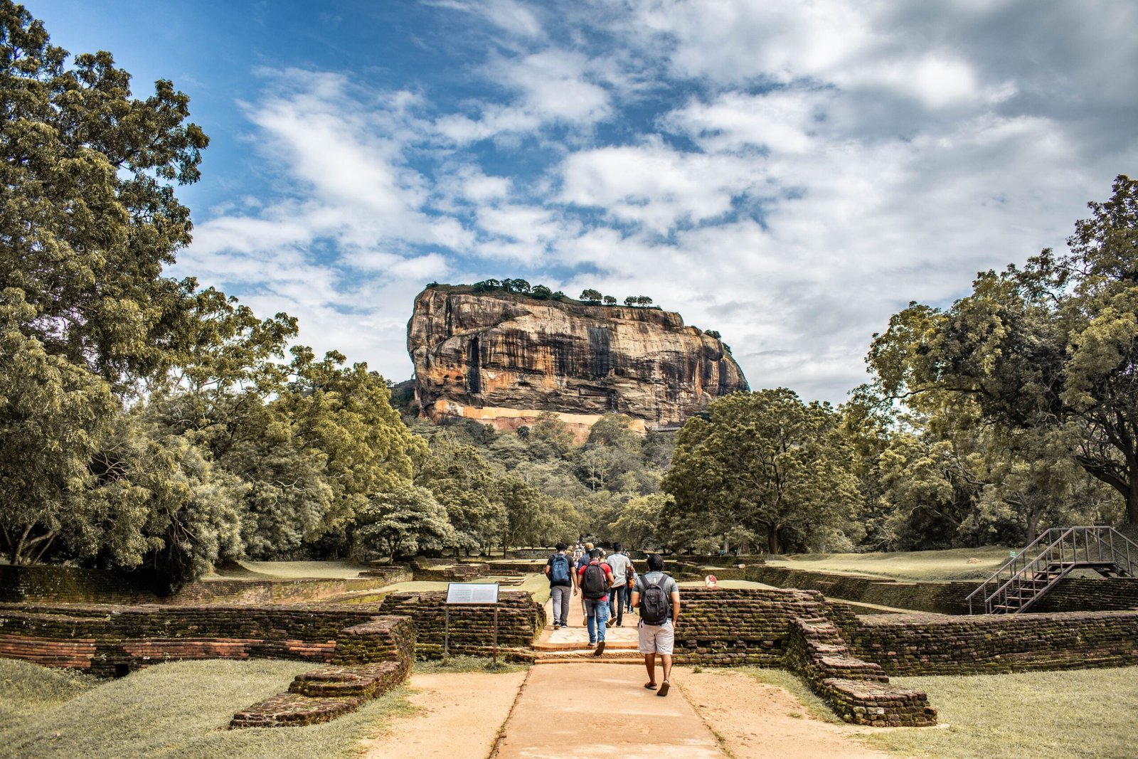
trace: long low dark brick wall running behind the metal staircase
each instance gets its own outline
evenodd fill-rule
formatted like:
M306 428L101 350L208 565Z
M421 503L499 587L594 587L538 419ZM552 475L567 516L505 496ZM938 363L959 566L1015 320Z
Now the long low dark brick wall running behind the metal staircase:
M965 599L979 585L974 580L917 583L769 566L748 566L742 578L783 588L819 591L828 599L941 614L967 614ZM1065 577L1032 607L1031 613L1135 608L1138 608L1138 578Z

